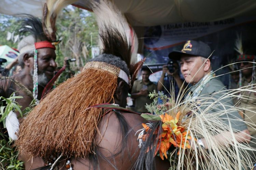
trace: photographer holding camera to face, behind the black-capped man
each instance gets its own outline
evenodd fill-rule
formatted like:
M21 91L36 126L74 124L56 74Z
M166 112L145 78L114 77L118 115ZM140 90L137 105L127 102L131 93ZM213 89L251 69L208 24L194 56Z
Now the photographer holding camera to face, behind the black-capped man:
M184 82L180 78L180 67L177 61L170 59L167 65L163 65L162 75L157 83L157 90L163 91L163 94L170 97L172 87L174 88L175 100L178 96L179 90ZM182 89L186 87L183 85Z

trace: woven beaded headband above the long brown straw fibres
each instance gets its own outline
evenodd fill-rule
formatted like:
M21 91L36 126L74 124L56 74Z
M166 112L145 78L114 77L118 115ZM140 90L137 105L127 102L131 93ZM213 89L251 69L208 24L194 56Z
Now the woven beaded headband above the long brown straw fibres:
M128 85L131 85L131 79L128 77L128 75L124 72L124 70L121 70L119 67L116 67L112 64L108 64L105 62L88 62L84 66L85 69L95 69L95 70L104 70L108 71L109 73L115 75L116 77L119 77L123 79Z

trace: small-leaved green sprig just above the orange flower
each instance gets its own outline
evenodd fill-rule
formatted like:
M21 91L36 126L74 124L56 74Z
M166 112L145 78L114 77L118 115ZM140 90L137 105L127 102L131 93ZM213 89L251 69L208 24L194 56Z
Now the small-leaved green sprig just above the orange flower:
M148 112L150 112L151 114L155 113L155 115L161 115L164 114L166 110L168 110L166 105L158 104L158 98L162 100L162 103L167 103L168 101L171 101L171 99L164 95L163 92L157 93L156 90L154 90L153 92L150 92L148 96L150 97L150 99L153 99L152 103L146 104L146 109L148 110Z

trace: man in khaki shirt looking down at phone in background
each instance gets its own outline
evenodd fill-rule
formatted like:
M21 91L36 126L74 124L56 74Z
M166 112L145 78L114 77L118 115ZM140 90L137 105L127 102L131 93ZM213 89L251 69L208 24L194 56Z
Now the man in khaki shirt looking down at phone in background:
M153 102L148 94L156 90L156 84L148 79L150 72L149 68L143 67L141 69L142 80L136 80L132 87L131 98L135 100L135 110L139 113L147 113L146 104Z

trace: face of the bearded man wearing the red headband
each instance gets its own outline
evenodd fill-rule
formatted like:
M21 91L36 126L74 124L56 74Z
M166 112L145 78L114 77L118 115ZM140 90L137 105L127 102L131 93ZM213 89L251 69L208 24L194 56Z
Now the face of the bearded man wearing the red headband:
M54 70L57 67L55 63L56 54L52 48L38 49L38 82L39 84L46 85L54 76ZM33 65L32 65L32 69ZM33 70L30 70L31 72ZM40 83L42 82L42 83ZM46 84L45 84L46 83Z

